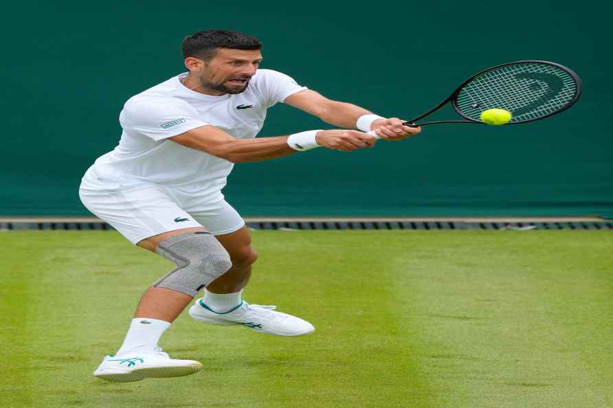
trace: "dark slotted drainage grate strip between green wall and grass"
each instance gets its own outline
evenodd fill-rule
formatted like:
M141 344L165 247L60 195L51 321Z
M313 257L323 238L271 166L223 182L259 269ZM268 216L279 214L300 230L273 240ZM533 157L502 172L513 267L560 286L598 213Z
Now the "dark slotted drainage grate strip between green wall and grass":
M613 221L605 222L469 222L469 221L405 221L405 220L276 220L276 221L249 221L250 229L294 231L299 229L489 229L489 230L517 230L528 231L533 229L613 229ZM104 221L91 222L44 222L35 223L27 221L0 222L0 231L24 230L96 230L113 229Z

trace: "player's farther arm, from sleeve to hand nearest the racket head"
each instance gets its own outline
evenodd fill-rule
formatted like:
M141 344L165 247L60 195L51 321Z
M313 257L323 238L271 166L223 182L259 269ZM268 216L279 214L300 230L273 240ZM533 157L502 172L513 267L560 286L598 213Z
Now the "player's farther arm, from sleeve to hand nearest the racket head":
M357 105L330 100L310 89L289 95L284 102L339 128L357 128L357 121L360 117L373 115L372 112ZM368 126L369 119L372 120L373 118L375 117L364 117L361 120L362 127L364 127L364 124ZM370 122L370 129L361 128L360 130L375 131L379 137L387 140L401 140L421 132L421 128L404 126L403 122L406 121L398 117L375 118L374 121Z

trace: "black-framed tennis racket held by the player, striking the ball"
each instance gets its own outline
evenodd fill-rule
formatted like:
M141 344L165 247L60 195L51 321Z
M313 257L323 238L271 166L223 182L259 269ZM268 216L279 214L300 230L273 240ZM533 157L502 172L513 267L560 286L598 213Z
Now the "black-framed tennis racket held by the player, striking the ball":
M566 111L581 96L581 78L571 69L548 61L525 60L484 69L460 84L449 98L405 126L446 123L485 124L480 115L487 109L511 112L509 124L544 119ZM417 123L451 102L464 120ZM368 132L379 138L374 131Z

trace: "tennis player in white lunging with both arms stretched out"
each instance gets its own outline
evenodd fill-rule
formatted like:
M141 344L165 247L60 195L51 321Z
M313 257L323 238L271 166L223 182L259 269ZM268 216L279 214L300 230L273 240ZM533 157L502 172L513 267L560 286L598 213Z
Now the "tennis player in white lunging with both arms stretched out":
M130 98L120 113L115 150L91 166L80 199L93 214L133 244L156 252L176 268L149 287L123 344L93 373L108 381L192 374L201 363L170 359L158 341L203 288L190 308L197 321L244 326L277 336L307 335L308 321L274 306L242 299L256 251L245 221L222 188L234 163L274 159L324 147L342 152L371 148L379 137L419 133L403 120L328 100L271 69L258 69L261 43L227 30L197 32L183 40L187 73ZM254 139L267 109L278 102L343 129L311 130Z

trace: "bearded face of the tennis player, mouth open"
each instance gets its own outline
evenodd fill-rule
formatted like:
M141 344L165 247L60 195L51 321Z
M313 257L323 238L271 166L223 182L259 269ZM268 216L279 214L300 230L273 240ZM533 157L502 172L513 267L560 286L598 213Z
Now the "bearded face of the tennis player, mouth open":
M241 93L247 89L261 60L259 49L220 48L199 73L202 87L223 93Z

